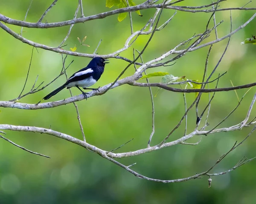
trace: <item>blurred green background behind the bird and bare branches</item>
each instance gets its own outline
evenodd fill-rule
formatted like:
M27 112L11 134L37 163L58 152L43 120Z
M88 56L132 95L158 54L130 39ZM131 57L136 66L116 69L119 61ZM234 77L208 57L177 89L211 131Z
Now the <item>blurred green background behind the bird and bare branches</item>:
M134 0L142 3L143 0ZM221 7L239 7L247 0L229 0L221 3ZM0 0L0 13L8 17L23 20L30 0ZM52 0L34 0L27 15L27 21L37 22L41 14L52 3ZM109 11L116 8L105 7L105 0L83 1L85 16ZM210 0L186 0L178 5L200 6L211 3ZM49 11L43 22L57 22L73 18L77 1L62 0ZM250 3L248 7L256 7ZM143 17L133 13L134 31L140 30L148 19L153 16L155 9L143 10ZM164 10L160 23L165 22L174 13L174 10ZM232 11L233 29L247 21L255 11ZM80 14L79 14L80 16ZM164 52L175 47L180 41L186 40L194 33L204 32L210 13L188 13L177 11L173 20L160 32L154 35L153 40L143 54L144 61L154 59ZM222 37L230 32L230 11L221 11L216 14L217 23L224 20L218 27L218 36ZM211 22L211 26L213 23ZM15 32L20 27L6 24ZM57 47L67 34L69 26L51 29L23 28L23 37ZM255 82L255 51L256 46L248 44L241 46L245 38L256 34L255 20L245 29L231 37L230 46L213 78L219 73L227 71L221 78L219 87L231 86L230 79L235 86ZM93 20L76 24L65 44L64 49L77 46L77 52L93 53L100 39L102 43L97 52L108 54L122 48L130 35L130 23L127 17L122 22L117 21L117 15L104 19ZM87 36L84 43L90 47L79 46L77 37ZM132 59L132 48L142 50L149 36L140 36L130 49L121 53L121 56ZM205 40L214 40L215 34ZM221 57L227 39L215 44L209 57L209 70L212 70ZM32 47L21 43L5 31L0 30L0 100L8 101L16 98L26 79ZM187 53L177 60L174 66L159 67L148 72L163 71L175 76L186 76L189 79L202 79L205 58L209 47ZM67 57L67 64L74 63L67 69L68 76L86 66L90 61L84 57ZM111 59L105 68L102 78L96 84L104 86L113 82L128 63L118 59ZM49 83L59 74L62 67L61 55L55 52L38 49L34 50L31 71L25 92L28 92L37 75L38 84L44 81ZM134 73L131 66L125 76ZM140 80L144 81L144 80ZM151 78L151 82L159 82L160 78ZM37 103L41 98L65 82L65 77L58 80L41 92L22 98L23 103ZM212 84L210 87L214 87ZM152 88L155 94L157 88ZM242 101L241 106L233 115L221 124L227 127L241 122L247 112L255 93L252 88ZM79 90L72 89L74 95ZM239 97L247 90L238 90ZM70 96L67 89L55 95L49 101L57 101ZM187 103L191 104L195 94L187 94ZM207 104L208 94L203 94L199 112ZM160 91L154 97L155 103L155 134L152 145L158 144L178 123L184 113L183 95L181 93ZM212 102L209 115L209 128L215 126L222 118L231 112L238 100L234 91L218 92ZM111 150L134 138L116 152L134 151L145 148L151 133L151 101L148 88L124 85L110 90L107 94L93 97L87 101L77 103L84 126L87 142L101 149ZM24 126L39 126L49 128L76 138L82 139L77 121L76 110L72 103L51 109L22 110L1 108L0 123ZM256 112L253 110L251 119ZM188 115L188 132L195 128L195 109ZM132 158L118 160L122 164L137 164L133 170L159 179L184 178L195 173L207 170L217 159L227 152L235 143L241 141L250 132L252 127L241 131L218 133L204 136L197 146L176 145L160 149L151 153ZM183 135L184 124L169 138L169 141ZM207 177L174 184L162 184L136 178L134 175L89 152L78 145L55 138L31 132L5 131L6 137L23 147L49 155L43 158L25 152L4 140L0 140L0 204L231 204L255 203L256 177L254 176L256 161L252 161L228 174L213 177L212 187L208 188ZM188 142L196 142L195 136ZM221 172L233 167L243 156L256 156L255 134L244 144L231 152L212 172Z

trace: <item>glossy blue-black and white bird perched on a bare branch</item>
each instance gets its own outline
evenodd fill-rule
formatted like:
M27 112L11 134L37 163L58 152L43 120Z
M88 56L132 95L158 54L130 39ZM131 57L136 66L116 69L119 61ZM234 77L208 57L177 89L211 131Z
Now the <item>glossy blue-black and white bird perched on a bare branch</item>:
M53 92L49 93L43 99L47 100L51 98L52 96L56 95L58 92L60 92L62 89L66 87L67 89L70 89L71 87L77 87L84 95L84 99L87 100L87 95L86 95L87 93L83 92L79 87L82 87L83 89L99 91L99 89L93 89L93 88L87 88L87 87L92 86L99 80L99 78L104 72L105 64L109 63L106 61L108 60L105 60L102 57L94 57L86 67L74 73L67 80L66 83L58 87L58 89L55 89Z

